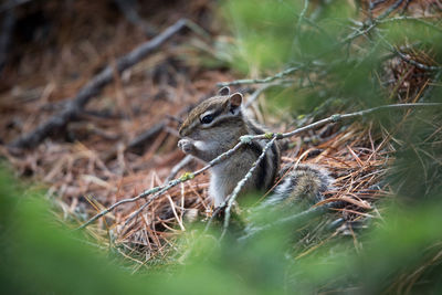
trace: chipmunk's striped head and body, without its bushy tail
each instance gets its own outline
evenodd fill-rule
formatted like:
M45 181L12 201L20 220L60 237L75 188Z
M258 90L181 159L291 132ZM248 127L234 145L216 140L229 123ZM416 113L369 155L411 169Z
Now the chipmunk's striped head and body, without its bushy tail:
M227 94L225 89L223 94ZM193 108L179 129L183 139L179 146L185 152L204 161L210 161L229 150L243 135L264 134L265 130L248 118L241 109L242 95L239 93L211 97ZM204 116L213 120L203 123ZM262 154L265 140L256 140L242 146L229 159L213 167L209 194L214 206L220 206L233 191ZM275 144L245 183L242 193L267 190L272 187L280 169L280 148Z

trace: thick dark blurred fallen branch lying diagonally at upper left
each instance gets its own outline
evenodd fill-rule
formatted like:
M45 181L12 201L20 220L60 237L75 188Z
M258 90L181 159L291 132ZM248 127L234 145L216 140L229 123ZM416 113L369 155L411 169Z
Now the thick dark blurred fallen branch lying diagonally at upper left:
M122 73L123 71L131 67L140 60L146 57L149 53L158 49L162 43L169 40L171 36L180 32L182 29L188 27L189 21L181 19L175 24L167 28L162 33L154 38L152 40L143 43L127 55L119 57L116 62L115 71ZM105 85L114 80L114 69L113 65L107 65L97 75L95 75L92 81L90 81L83 88L80 89L77 95L73 101L69 102L65 108L46 122L39 125L32 131L17 138L9 146L12 148L32 148L40 144L43 139L49 137L54 133L54 130L60 130L66 126L70 120L75 119L84 106L99 94Z

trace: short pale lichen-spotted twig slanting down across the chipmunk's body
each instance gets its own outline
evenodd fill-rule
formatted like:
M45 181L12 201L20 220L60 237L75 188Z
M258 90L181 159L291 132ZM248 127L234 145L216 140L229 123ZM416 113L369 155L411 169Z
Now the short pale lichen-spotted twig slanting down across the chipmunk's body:
M249 179L252 177L253 172L256 170L256 167L260 165L260 162L264 159L265 154L267 152L269 148L273 146L273 144L276 140L276 136L274 136L263 148L260 157L256 159L256 161L252 165L250 168L249 172L238 182L236 187L233 189L233 192L225 199L224 203L221 206L222 208L225 208L225 217L224 217L224 225L222 229L221 238L220 240L224 236L224 234L228 231L229 223L230 223L230 212L232 210L232 206L234 201L238 198L238 194L240 193L241 189L245 186L245 182L249 181ZM214 215L212 215L214 218Z

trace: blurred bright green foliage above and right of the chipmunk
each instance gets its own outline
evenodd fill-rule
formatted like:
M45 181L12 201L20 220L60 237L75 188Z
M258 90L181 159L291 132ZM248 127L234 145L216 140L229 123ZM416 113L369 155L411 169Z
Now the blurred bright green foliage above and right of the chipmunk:
M224 1L223 11L235 35L233 69L265 77L301 67L288 76L292 85L280 87L280 93L291 88L281 94L284 99L275 89L267 98L280 97L276 106L296 115L312 112L328 97L358 108L391 103L385 70L386 61L398 56L394 49L431 52L433 62L442 62L440 22L397 14L369 22L348 1Z

